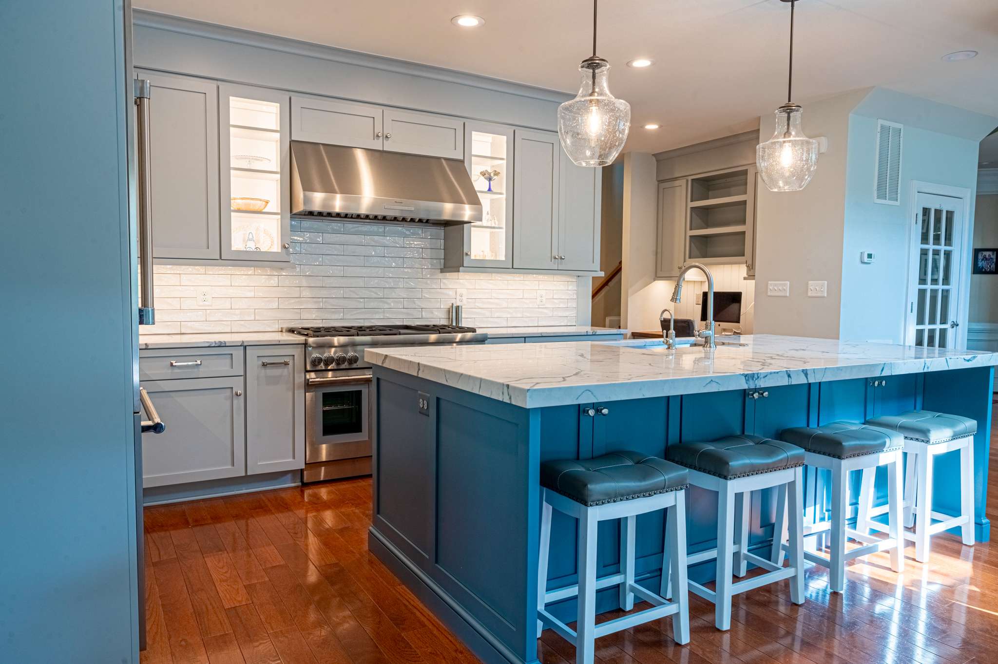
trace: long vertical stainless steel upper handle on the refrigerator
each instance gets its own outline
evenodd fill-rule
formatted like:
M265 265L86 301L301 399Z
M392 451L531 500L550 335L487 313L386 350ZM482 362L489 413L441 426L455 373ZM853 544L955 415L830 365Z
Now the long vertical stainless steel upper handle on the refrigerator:
M136 157L138 163L137 208L139 212L139 259L141 261L142 288L139 300L139 325L156 323L153 298L153 188L150 183L151 158L149 137L149 94L151 84L145 79L135 79L136 106Z

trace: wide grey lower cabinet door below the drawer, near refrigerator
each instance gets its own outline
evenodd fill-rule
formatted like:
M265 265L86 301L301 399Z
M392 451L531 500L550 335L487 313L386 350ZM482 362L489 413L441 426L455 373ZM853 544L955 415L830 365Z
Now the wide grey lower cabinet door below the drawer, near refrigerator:
M167 426L142 436L143 487L246 475L242 376L142 386Z

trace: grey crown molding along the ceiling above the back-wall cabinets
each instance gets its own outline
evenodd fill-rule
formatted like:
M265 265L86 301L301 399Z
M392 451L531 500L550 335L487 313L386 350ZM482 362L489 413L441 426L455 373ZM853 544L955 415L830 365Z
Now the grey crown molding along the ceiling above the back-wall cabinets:
M508 95L517 95L543 102L561 104L562 102L567 102L574 97L574 95L570 93L529 86L523 83L504 81L502 79L480 76L478 74L469 74L467 72L459 72L457 70L436 67L433 65L423 65L405 60L385 58L384 56L361 53L359 51L349 51L346 49L336 48L334 46L326 46L324 44L303 42L288 37L267 35L262 32L244 30L243 28L233 28L231 26L208 23L206 21L197 21L195 19L184 18L181 16L172 16L170 14L161 14L160 12L152 12L145 9L134 9L132 12L132 20L135 25L146 28L155 28L183 35L215 39L222 42L231 42L243 46L252 46L280 53L326 60L329 62L355 65L359 67L369 67L371 69L378 69L406 76L418 76L424 79L432 79L446 83L470 86L473 88L481 88L483 90L491 90Z

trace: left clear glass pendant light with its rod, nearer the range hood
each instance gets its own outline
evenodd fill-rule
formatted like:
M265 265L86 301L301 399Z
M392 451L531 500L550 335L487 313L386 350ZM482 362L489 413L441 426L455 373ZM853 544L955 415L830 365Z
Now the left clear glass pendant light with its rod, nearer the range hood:
M631 105L610 94L610 63L596 55L596 3L593 0L593 56L579 65L579 94L558 107L558 137L577 166L612 164L631 129Z

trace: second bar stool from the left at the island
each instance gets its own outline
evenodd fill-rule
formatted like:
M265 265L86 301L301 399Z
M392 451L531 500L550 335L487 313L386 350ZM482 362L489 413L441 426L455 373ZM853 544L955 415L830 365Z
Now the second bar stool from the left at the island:
M790 581L790 601L804 601L803 571L803 451L792 445L758 436L730 436L711 443L684 443L666 449L666 458L690 469L690 484L718 493L718 546L687 556L687 564L717 558L716 590L689 581L690 590L715 604L718 629L732 626L732 597L767 583ZM756 489L785 487L789 496L790 566L780 567L749 553L749 495ZM736 518L736 502L740 514ZM736 521L738 531L736 532ZM733 560L734 555L734 560ZM751 562L767 571L732 582L732 572L745 576ZM733 569L734 567L734 569ZM663 594L668 579L663 575Z

